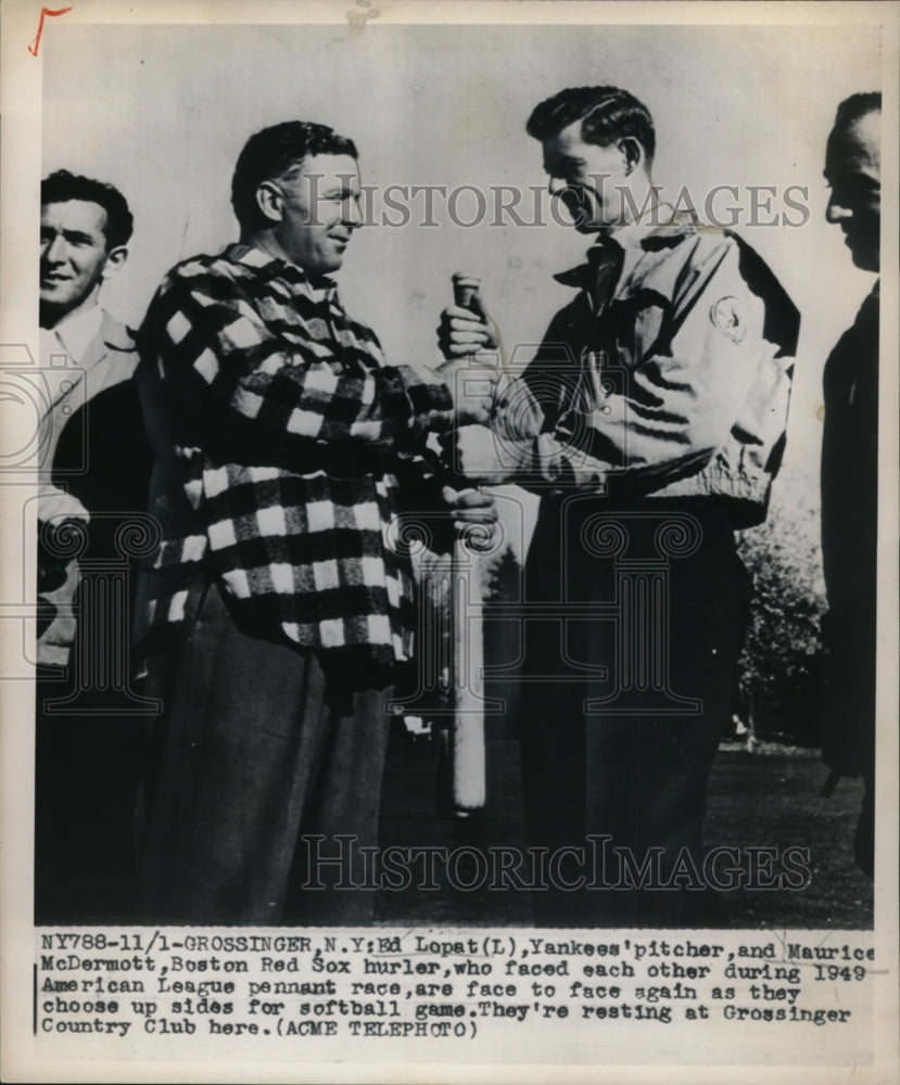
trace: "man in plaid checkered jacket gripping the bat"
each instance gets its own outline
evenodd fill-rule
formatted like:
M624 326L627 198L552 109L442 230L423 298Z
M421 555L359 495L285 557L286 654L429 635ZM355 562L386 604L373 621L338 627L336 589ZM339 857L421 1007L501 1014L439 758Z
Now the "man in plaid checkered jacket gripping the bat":
M386 366L341 305L359 192L330 128L257 132L232 181L240 243L173 268L147 315L147 920L371 918L359 848L378 843L385 690L415 617L401 500L448 527L493 518L428 468L447 388Z

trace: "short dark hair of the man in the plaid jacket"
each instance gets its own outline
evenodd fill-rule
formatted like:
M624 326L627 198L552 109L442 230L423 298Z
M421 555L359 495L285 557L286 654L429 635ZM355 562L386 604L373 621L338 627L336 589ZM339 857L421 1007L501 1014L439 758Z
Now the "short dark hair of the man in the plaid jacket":
M250 137L238 155L231 178L231 206L241 226L252 226L259 219L256 204L259 184L281 177L310 154L358 157L353 140L309 120L286 120Z

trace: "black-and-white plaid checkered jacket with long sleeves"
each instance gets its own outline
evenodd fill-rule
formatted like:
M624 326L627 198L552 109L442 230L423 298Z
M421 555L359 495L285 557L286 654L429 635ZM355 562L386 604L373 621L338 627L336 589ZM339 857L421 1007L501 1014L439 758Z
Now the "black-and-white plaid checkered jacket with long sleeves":
M139 602L144 652L183 621L205 570L251 635L360 675L408 660L398 499L433 500L414 483L429 481L420 454L448 422L446 387L386 366L330 280L242 245L173 268L140 339L163 529Z

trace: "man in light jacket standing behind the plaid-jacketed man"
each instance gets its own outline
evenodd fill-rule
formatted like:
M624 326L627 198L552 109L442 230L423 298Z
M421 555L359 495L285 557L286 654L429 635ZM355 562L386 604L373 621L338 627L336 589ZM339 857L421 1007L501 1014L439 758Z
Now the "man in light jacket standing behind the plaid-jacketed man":
M109 677L116 638L101 628L109 615L90 609L79 580L85 562L99 563L101 575L121 565L117 529L147 505L135 342L99 304L103 283L126 260L132 219L117 189L67 170L47 177L40 194L49 396L38 497L35 910L39 922L113 921L127 916L132 892L140 733L134 717L117 715L121 690L81 688L104 669ZM66 521L85 532L80 566L56 536ZM118 605L126 612L127 598ZM121 617L127 630L127 613ZM90 718L78 697L85 692Z

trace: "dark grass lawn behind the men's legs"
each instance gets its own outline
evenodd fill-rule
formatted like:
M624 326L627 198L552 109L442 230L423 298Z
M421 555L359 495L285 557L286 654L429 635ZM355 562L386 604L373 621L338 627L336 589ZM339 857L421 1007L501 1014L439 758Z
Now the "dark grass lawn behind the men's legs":
M487 743L487 803L482 815L458 821L436 808L436 742L398 731L385 773L381 845L484 848L524 847L518 745ZM804 751L765 748L720 751L710 779L707 847L809 850L808 888L736 889L721 894L725 926L735 929L866 929L872 927L873 890L855 867L852 835L862 800L858 780L841 780L831 799L819 796L826 771ZM775 866L777 872L782 868ZM441 881L439 879L439 881ZM474 889L384 890L377 921L383 924L530 926L528 893Z

